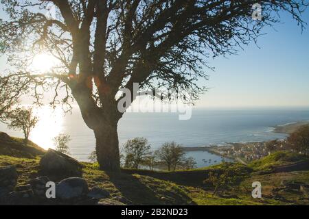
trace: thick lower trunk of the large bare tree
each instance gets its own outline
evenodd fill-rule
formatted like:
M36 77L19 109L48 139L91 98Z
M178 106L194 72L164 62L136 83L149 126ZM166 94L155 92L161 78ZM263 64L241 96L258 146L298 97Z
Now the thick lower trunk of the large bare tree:
M120 170L117 123L102 125L94 130L96 152L100 170L117 172Z

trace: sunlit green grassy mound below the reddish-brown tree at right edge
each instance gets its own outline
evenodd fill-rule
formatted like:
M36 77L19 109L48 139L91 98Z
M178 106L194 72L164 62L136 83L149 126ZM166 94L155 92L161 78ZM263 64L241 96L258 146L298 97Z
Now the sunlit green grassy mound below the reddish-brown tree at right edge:
M253 168L255 171L271 170L271 168L274 166L293 164L295 162L301 162L305 160L308 160L308 157L305 157L304 155L299 155L297 153L291 153L288 151L278 151L262 159L251 162L248 166Z

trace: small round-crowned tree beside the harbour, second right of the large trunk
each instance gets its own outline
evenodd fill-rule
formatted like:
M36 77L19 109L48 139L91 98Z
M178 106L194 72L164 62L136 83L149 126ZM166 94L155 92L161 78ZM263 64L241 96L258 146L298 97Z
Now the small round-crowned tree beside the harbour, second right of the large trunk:
M160 161L168 167L168 171L176 170L177 165L181 164L185 153L181 145L176 142L165 142L160 149L156 151Z

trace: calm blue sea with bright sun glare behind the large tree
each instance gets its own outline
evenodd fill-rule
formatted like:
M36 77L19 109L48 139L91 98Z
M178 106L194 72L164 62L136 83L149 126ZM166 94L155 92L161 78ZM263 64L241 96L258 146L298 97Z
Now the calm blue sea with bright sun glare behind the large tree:
M87 162L95 149L93 131L82 120L77 108L71 114L49 107L36 109L40 122L30 140L45 149L54 148L53 138L59 133L69 134L72 157ZM275 133L276 125L309 120L309 108L299 109L201 109L194 108L190 120L179 120L177 113L126 113L119 121L119 146L135 137L144 137L158 149L164 142L183 146L226 145L229 142L261 142L284 139L284 133ZM0 124L0 131L22 137L21 131L10 130ZM187 157L196 159L197 167L222 162L222 157L207 151L189 151Z

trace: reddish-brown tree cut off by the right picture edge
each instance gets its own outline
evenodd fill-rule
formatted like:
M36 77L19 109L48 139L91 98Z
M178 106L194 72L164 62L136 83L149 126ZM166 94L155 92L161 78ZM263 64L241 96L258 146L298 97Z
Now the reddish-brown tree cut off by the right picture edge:
M309 125L304 125L290 134L288 143L299 153L307 155L309 150Z

